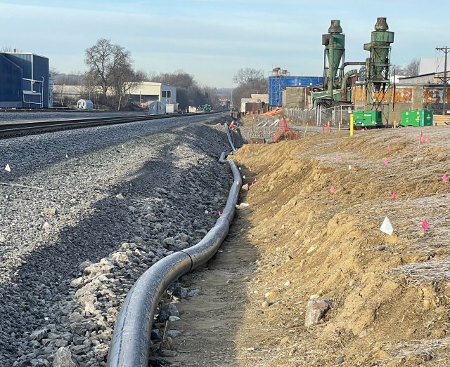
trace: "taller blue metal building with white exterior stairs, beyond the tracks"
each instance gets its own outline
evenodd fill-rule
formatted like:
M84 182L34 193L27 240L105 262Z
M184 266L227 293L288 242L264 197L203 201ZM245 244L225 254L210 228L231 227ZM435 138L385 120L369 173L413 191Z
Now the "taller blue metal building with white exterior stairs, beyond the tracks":
M49 107L49 59L34 53L1 53L22 69L24 108Z

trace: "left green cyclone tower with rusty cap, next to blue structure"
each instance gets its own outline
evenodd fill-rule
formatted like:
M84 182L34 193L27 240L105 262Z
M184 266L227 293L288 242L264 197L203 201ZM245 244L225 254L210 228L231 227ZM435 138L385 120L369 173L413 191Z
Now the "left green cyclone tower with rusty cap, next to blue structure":
M342 79L342 68L340 61L344 60L345 54L345 34L342 33L340 20L331 20L328 34L322 34L322 44L325 46L323 57L323 89L327 91L328 98L333 98L333 89L337 87L335 81L340 72L339 79Z

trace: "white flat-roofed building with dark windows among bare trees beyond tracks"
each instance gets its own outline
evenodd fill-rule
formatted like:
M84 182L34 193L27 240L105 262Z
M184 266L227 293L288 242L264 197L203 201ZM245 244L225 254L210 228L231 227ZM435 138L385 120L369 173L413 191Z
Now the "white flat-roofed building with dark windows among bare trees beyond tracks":
M131 100L141 107L148 107L156 100L176 103L176 87L154 81L143 81L131 92Z

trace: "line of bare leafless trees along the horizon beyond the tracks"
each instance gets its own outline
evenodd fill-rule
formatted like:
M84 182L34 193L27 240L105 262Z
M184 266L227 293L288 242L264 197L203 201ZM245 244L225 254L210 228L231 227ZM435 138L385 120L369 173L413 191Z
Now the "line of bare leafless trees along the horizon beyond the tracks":
M126 109L136 87L142 81L154 81L176 87L176 102L180 109L205 103L212 109L221 109L219 98L231 99L231 95L231 103L237 109L241 98L248 98L252 93L267 93L268 89L264 72L249 67L238 70L233 77L238 86L222 95L217 88L200 85L194 76L181 69L160 74L134 70L129 51L108 39L98 39L96 44L86 49L84 56L86 72L60 74L52 70L56 84L54 93L61 96L58 102L64 102L64 88L70 85L78 86L77 93L82 98L94 100L97 105Z

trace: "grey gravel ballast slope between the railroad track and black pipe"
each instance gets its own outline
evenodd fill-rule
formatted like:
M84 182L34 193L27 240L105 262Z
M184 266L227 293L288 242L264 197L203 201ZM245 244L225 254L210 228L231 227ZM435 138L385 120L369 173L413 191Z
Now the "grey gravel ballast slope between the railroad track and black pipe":
M226 203L225 120L1 141L0 366L105 366L134 281L200 241Z

